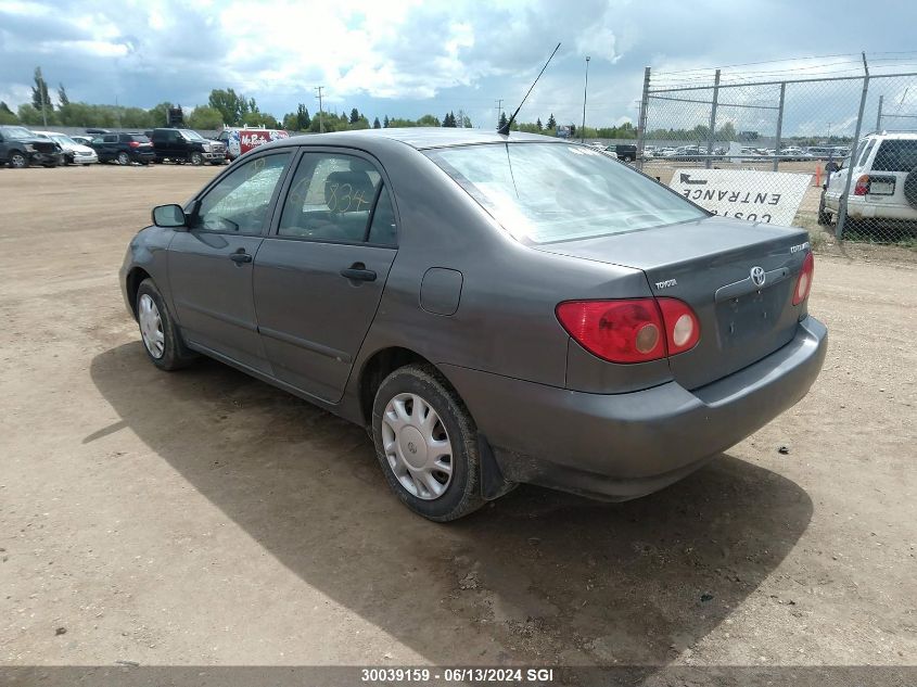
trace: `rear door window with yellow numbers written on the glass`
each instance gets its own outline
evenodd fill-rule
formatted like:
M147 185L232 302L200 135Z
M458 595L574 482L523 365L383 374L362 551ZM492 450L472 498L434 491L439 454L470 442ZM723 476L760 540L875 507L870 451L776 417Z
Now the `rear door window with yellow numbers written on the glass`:
M394 244L394 213L375 166L352 155L306 153L300 161L283 205L278 236L316 241L364 242L377 198L379 243ZM387 203L389 211L385 211ZM387 228L383 227L389 222ZM372 228L377 227L375 220ZM373 239L370 239L371 242Z

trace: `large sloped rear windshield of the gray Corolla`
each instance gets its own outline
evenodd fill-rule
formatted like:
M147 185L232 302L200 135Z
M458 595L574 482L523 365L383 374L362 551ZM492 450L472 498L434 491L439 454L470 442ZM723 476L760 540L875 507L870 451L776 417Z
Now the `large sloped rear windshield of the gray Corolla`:
M709 213L586 145L495 143L428 151L517 239L550 243L702 219Z

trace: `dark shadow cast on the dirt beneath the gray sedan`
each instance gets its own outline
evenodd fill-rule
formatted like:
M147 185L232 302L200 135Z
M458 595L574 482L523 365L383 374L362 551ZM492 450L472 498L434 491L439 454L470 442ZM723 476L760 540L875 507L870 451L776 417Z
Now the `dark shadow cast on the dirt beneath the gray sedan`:
M120 419L85 442L129 428L303 581L438 664L667 664L812 516L797 484L725 455L634 501L521 486L438 525L389 493L361 428L241 372L163 373L137 342L90 373Z

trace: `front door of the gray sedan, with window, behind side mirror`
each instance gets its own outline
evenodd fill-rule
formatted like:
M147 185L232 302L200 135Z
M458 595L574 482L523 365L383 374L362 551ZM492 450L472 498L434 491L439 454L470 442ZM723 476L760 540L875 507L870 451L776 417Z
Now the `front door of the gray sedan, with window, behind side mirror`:
M257 333L252 268L292 158L278 151L219 177L168 249L169 287L186 341L270 373Z

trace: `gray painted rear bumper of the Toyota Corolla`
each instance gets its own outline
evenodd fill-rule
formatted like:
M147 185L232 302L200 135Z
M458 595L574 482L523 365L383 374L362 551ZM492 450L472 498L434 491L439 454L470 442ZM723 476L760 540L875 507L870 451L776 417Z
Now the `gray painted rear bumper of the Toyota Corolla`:
M806 317L779 351L695 391L666 382L588 394L442 369L506 479L623 500L676 482L799 402L822 369L827 333Z

